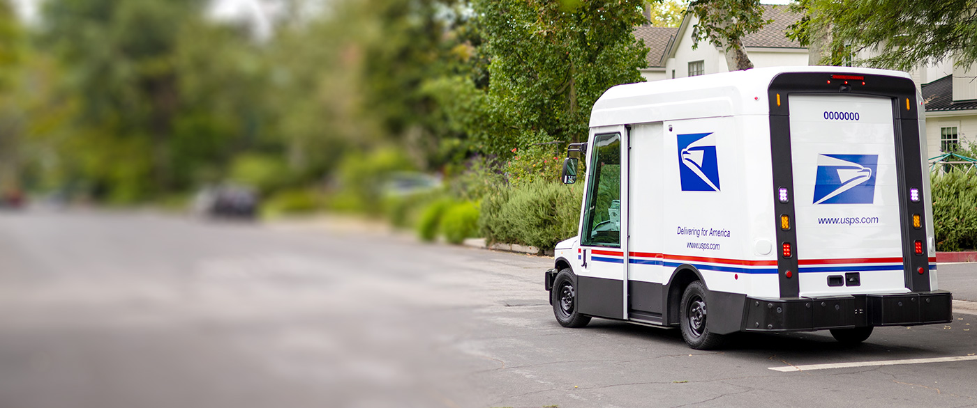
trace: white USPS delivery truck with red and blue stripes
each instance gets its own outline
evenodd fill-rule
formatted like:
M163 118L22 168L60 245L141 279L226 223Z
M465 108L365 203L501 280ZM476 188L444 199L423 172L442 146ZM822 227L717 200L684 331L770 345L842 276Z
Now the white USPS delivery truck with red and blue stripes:
M952 320L938 290L922 100L897 71L776 67L612 88L594 104L579 235L545 287L591 317L723 335ZM564 164L576 179L577 159Z

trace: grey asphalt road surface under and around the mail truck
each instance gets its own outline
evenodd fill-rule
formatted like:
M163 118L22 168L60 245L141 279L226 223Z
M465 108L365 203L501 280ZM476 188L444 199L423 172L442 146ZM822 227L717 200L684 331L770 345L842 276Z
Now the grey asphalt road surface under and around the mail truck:
M0 407L977 406L977 315L697 352L560 327L549 265L335 225L0 213ZM939 273L977 301L977 267ZM934 357L964 358L771 369Z

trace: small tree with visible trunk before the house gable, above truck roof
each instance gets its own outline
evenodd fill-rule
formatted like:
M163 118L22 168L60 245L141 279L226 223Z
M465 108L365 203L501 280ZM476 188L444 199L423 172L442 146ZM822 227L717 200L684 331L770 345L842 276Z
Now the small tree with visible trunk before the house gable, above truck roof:
M760 0L692 0L689 13L699 18L692 29L694 47L700 41L721 47L726 51L726 65L731 71L753 67L743 47L743 37L772 21L763 19Z

